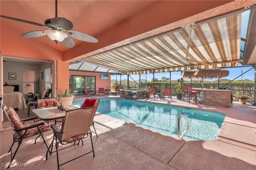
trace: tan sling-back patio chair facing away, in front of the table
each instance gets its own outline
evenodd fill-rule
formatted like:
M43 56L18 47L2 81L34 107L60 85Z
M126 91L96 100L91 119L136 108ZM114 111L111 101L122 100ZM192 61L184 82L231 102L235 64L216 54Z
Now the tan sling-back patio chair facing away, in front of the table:
M72 160L75 160L77 158L80 158L81 156L89 154L91 152L93 153L93 157L95 156L93 143L92 143L92 132L90 130L94 109L95 109L94 107L86 107L86 108L73 109L73 110L66 111L65 119L60 129L56 127L56 125L51 125L51 128L54 132L54 136L53 136L51 145L48 148L48 151L51 150L50 155L53 153L52 148L55 140L56 151L54 152L56 152L57 154L58 170L60 169L60 166ZM84 145L83 139L88 137L90 137L90 140L91 140L92 150L80 156L77 156L76 158L73 158L67 162L60 164L60 158L59 158L60 150L69 148L71 146L79 146L80 142L82 142L82 146L83 146ZM72 145L59 149L59 144L61 145L72 144ZM48 159L48 151L46 152L46 160ZM68 150L67 152L63 153L63 156L67 156L67 155L70 156L70 150Z

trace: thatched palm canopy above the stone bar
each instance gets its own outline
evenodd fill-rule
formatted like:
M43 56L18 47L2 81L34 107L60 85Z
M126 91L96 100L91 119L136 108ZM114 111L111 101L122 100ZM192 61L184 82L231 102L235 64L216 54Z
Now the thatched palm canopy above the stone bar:
M229 75L228 70L212 68L212 69L192 69L186 70L182 73L181 77L185 79L202 79L202 88L203 88L203 79L214 79L218 78L218 81L222 77L227 77Z

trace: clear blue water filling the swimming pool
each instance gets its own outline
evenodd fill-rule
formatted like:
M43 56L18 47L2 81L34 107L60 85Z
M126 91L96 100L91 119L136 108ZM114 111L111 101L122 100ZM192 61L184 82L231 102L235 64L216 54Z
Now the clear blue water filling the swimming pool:
M81 106L83 101L74 102ZM178 117L184 115L189 122L186 140L216 140L225 115L212 111L201 111L182 107L146 103L124 99L100 99L97 112L177 136ZM180 121L180 136L186 131L186 121Z

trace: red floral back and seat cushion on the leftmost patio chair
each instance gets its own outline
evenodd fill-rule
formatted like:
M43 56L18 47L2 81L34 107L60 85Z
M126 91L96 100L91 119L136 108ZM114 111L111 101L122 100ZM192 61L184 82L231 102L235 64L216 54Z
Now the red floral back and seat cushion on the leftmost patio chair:
M14 111L14 109L12 107L9 107L9 109L7 109L7 114L8 117L10 118L10 120L12 121L12 124L14 125L15 129L19 129L19 128L24 128L26 127L25 125L23 125L23 123L20 121L20 117L18 116L18 114ZM40 121L40 122L44 122L44 121ZM50 130L50 126L47 124L41 125L39 126L41 132L44 132L46 130ZM21 137L22 135L24 135L25 130L20 130L17 131L19 136L15 135L15 140L17 140L19 137ZM35 134L39 134L38 128L30 128L27 130L24 138L33 136Z

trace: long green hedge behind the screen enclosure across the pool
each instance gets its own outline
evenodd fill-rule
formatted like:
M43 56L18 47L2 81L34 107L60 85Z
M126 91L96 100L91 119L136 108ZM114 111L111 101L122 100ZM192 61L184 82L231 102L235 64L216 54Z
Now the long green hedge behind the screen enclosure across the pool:
M177 81L171 82L171 93L172 95L176 95L176 85ZM234 96L233 99L236 100L236 97L239 95L247 95L250 97L248 101L254 101L254 81L244 81L244 84L242 81L232 81L228 83L228 81L221 81L220 87L224 86L224 88L231 89L232 95ZM118 82L118 85L120 82ZM155 87L155 91L162 91L163 87L170 88L170 82L152 82L147 81L142 82L144 86L139 87L138 85L135 85L133 81L130 81L129 85L132 89L147 89L147 87ZM190 81L184 81L183 84L189 84L191 85ZM204 89L218 89L218 82L217 81L204 81L203 83ZM116 87L116 83L112 83L111 91L114 91ZM121 82L121 89L127 89L127 82ZM202 88L202 83L198 81L192 81L192 88Z

